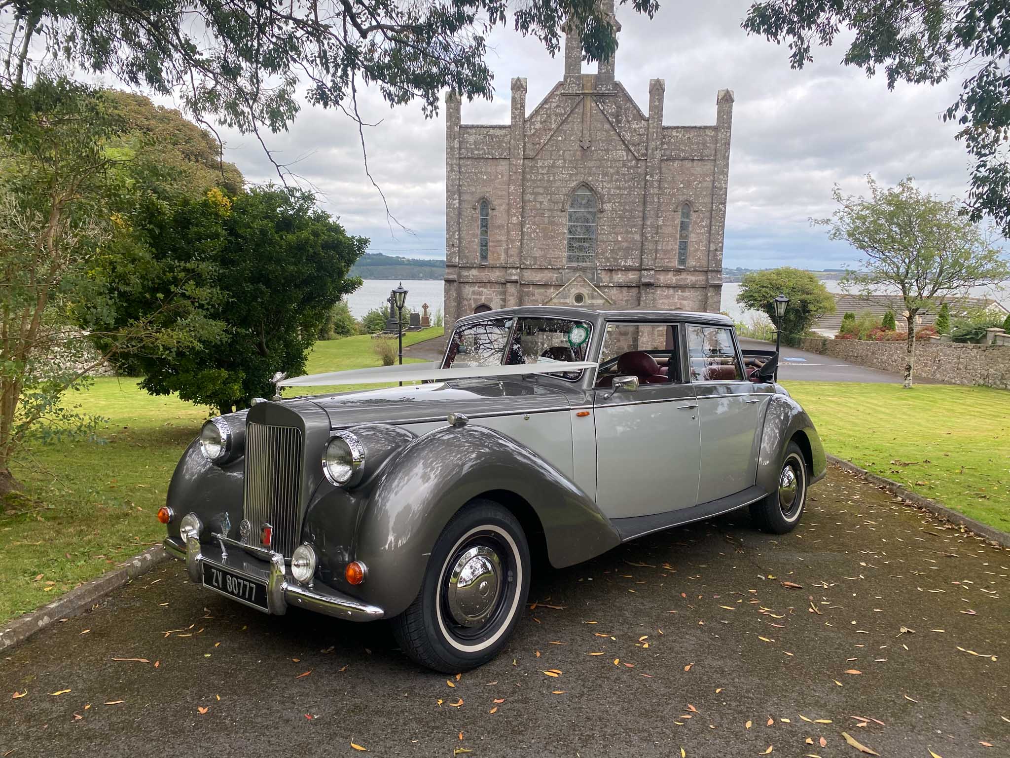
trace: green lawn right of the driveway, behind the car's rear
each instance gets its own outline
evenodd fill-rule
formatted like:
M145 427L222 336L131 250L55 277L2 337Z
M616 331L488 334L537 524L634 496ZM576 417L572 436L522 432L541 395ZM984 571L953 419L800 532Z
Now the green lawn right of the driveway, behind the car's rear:
M824 449L1010 532L1010 392L990 387L785 382Z

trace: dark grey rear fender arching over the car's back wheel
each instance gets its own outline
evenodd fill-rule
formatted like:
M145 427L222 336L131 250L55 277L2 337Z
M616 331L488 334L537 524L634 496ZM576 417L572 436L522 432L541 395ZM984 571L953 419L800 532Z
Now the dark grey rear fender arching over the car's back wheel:
M792 397L778 393L772 395L765 411L755 482L766 492L774 492L779 486L786 446L794 437L797 438L797 444L807 457L811 483L821 479L827 470L827 459L814 422L810 420L807 411Z

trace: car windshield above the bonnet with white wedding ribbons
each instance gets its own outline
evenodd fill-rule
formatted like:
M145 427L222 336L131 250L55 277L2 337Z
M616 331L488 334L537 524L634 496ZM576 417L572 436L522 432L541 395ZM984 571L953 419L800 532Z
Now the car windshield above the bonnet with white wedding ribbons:
M569 318L491 318L452 333L442 368L585 361L592 327ZM557 374L574 381L581 371Z

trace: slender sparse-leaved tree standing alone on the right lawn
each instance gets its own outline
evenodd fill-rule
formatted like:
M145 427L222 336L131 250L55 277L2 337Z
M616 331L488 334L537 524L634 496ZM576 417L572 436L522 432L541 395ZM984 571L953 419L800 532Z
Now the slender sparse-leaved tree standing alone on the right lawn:
M867 177L870 198L845 196L835 186L840 206L826 225L832 240L861 251L858 271L846 274L847 286L866 294L897 291L907 320L905 387L912 386L916 316L970 287L996 284L1010 276L1002 251L983 229L958 211L956 200L921 192L911 177L884 188Z

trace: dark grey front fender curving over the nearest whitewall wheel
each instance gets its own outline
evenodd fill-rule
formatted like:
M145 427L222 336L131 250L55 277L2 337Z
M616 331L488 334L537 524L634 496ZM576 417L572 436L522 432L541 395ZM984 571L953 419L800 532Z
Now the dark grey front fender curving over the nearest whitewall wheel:
M444 427L410 443L380 472L363 509L355 557L369 567L369 601L387 615L420 590L428 557L445 524L469 500L492 490L524 499L539 517L556 567L599 555L620 542L592 498L515 440L478 424Z

